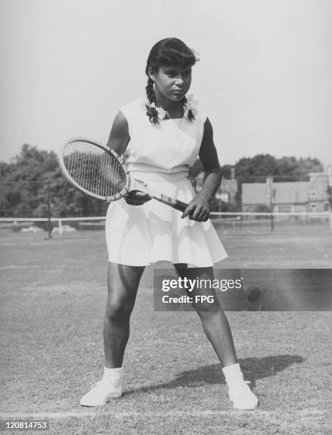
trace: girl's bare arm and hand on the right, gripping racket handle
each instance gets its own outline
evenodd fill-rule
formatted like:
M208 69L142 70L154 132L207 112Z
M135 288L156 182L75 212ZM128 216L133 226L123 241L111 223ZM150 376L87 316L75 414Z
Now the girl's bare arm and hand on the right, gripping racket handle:
M210 119L206 119L204 133L199 152L200 161L204 168L203 186L196 198L194 198L183 213L183 217L204 222L208 220L210 212L210 200L221 183L221 171L218 161L217 150L213 142L213 128Z

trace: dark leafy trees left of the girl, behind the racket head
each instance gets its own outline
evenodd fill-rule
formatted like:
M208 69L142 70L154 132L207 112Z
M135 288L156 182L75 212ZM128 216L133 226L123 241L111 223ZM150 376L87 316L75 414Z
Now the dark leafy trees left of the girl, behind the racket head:
M55 217L105 215L105 203L88 198L65 179L53 151L24 144L11 163L0 163L0 176L3 217L45 218L49 194Z

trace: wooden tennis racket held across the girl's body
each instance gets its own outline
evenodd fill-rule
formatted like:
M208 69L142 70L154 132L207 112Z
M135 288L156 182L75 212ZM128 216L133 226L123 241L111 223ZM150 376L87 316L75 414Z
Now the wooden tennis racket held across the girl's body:
M188 204L148 188L144 181L130 176L122 157L91 139L75 137L61 146L58 160L70 183L83 193L108 202L123 198L131 190L183 212Z

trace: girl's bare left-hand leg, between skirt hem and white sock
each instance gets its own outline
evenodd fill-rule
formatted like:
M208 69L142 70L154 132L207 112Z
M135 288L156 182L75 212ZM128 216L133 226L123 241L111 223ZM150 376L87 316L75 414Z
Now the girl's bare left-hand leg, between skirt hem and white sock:
M144 267L108 264L108 298L104 320L105 367L122 367L129 320Z

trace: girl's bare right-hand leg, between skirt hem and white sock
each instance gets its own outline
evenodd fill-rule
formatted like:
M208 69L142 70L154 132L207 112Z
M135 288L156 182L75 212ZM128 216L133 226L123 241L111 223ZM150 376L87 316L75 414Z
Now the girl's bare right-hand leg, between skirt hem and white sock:
M201 267L188 269L183 264L174 264L178 274L188 279L210 279L213 281L213 268ZM203 324L203 329L217 353L223 367L237 363L232 333L223 308L220 306L215 290L212 288L197 289L187 291L188 296L193 297L193 307ZM196 295L213 296L214 302L195 302Z

